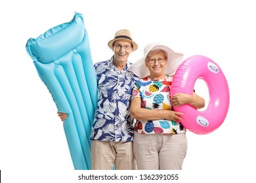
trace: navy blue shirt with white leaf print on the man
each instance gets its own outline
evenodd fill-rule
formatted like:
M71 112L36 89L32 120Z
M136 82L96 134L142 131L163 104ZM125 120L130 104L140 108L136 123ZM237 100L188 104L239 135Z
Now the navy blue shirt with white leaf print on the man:
M131 93L137 76L128 71L132 63L119 71L114 56L95 63L98 84L98 101L91 140L133 141L133 128L129 116Z

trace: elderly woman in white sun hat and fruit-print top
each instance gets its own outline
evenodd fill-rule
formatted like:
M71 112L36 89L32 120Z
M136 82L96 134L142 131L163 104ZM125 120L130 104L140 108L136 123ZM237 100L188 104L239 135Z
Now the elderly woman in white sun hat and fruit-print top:
M130 68L141 78L135 82L130 108L138 169L182 169L187 150L186 129L182 125L183 114L173 111L172 106L205 105L196 93L178 93L171 98L173 73L182 57L167 46L152 43L144 48L144 57Z

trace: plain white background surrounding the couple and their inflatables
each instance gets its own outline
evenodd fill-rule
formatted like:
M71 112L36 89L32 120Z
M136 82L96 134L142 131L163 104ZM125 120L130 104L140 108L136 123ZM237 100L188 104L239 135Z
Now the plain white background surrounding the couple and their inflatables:
M56 106L25 48L31 37L70 22L75 11L83 14L94 62L112 56L107 42L117 30L126 28L139 44L129 61L141 58L146 44L164 42L182 52L184 59L196 54L213 59L228 80L230 107L223 125L208 135L188 131L183 170L154 173L178 173L176 182L255 181L253 1L14 0L0 3L3 182L81 182L77 175L85 173L74 171ZM216 83L216 87L221 86ZM203 84L196 90L203 91ZM93 174L85 174L89 172Z

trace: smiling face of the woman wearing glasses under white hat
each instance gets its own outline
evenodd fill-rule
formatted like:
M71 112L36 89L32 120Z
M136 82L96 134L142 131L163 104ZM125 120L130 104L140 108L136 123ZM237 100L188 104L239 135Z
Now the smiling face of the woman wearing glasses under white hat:
M150 55L146 60L146 67L152 76L161 76L165 75L166 67L166 57L163 52L156 52L155 54Z

